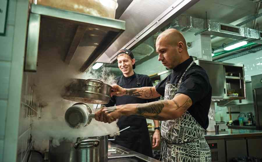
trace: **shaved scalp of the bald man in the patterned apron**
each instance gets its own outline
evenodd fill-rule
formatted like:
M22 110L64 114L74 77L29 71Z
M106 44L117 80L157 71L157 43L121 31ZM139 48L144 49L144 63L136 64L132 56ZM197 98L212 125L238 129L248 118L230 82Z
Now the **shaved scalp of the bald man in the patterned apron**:
M178 42L183 42L184 48L187 49L186 41L182 33L176 29L167 29L163 31L158 37L157 40L164 39L169 45L177 45ZM156 41L157 41L156 40Z

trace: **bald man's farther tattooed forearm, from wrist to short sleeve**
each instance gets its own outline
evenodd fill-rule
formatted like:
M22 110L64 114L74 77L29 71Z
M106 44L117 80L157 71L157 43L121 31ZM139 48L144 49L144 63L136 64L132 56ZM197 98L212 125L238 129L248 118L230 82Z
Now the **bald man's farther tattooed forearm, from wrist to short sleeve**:
M157 98L160 96L159 93L155 90L155 87L141 87L141 88L132 88L126 89L125 94L129 96L135 96L139 98Z

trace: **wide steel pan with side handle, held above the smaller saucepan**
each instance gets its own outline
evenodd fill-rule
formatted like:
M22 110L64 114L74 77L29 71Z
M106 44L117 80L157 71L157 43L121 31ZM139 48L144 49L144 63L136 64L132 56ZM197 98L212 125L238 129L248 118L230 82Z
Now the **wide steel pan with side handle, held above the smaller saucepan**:
M73 79L72 82L65 88L65 93L62 97L66 100L106 104L110 100L112 87L97 79Z

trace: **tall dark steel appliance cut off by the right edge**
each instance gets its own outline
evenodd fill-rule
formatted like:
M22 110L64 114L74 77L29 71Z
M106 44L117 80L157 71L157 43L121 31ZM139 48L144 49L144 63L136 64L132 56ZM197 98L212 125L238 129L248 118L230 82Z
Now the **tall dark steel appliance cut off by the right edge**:
M262 74L251 76L256 129L262 130Z

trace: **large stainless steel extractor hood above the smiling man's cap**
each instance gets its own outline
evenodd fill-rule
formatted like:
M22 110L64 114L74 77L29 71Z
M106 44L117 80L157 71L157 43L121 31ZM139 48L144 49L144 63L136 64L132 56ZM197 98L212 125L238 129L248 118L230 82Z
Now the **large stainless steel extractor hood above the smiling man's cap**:
M116 60L116 52L118 50L123 48L133 50L198 1L199 0L132 1L120 17L120 20L126 21L126 30L105 51L97 62L113 63Z

